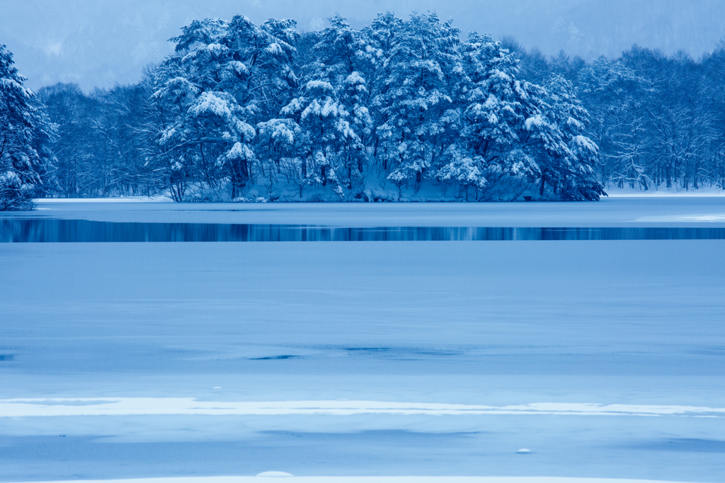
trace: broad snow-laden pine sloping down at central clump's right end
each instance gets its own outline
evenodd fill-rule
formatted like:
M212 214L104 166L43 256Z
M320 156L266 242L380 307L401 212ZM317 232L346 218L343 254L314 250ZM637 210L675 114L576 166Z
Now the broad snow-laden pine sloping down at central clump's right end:
M530 183L529 191L537 181L540 197L598 199L602 187L592 168L598 149L584 136L587 112L571 83L560 75L548 88L518 79L518 60L490 36L472 33L462 51L468 80L460 90L462 136L479 170L495 181L486 196L516 197L523 191L512 189L513 181ZM560 192L545 195L547 185Z

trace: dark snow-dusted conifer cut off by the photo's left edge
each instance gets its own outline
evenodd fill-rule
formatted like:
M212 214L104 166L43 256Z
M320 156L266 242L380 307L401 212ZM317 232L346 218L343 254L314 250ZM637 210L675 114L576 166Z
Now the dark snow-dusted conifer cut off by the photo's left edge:
M49 178L56 136L33 92L23 86L12 53L0 45L0 210L27 210ZM40 190L40 191L39 191Z

